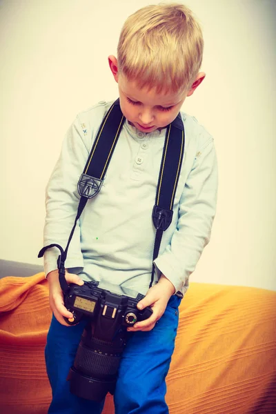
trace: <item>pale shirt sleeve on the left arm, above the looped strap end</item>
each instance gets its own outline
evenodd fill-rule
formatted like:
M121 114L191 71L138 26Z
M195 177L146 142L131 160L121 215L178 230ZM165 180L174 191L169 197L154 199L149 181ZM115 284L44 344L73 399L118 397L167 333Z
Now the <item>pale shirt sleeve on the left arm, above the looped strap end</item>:
M70 126L63 140L61 154L46 187L46 221L43 246L56 243L65 250L79 205L77 183L88 159L89 150L83 141L83 129L78 117ZM57 269L59 250L50 248L44 253L46 276ZM79 273L83 268L83 255L80 246L79 223L75 228L68 255L66 268Z

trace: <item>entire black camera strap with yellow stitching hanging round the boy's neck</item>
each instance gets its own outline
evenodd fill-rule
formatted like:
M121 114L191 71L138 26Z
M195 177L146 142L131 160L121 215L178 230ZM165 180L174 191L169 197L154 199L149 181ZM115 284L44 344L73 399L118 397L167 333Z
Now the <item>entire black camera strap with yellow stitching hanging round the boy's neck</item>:
M178 117L180 117L180 115ZM72 227L66 249L63 250L59 244L50 244L49 246L43 247L39 252L38 257L42 257L48 248L59 248L61 254L59 255L57 266L59 268L59 282L63 293L68 291L68 284L65 279L64 263L66 261L72 235L88 199L95 197L95 195L97 195L101 190L103 178L106 174L112 153L115 150L124 121L125 117L121 112L119 99L117 99L117 101L115 101L108 110L106 116L103 118L97 137L88 157L88 161L86 162L86 167L84 168L83 174L79 179L78 190L81 198L79 200L75 224ZM156 228L152 262L158 256L163 232L168 228L168 226L170 226L172 221L173 201L175 199L175 191L184 155L184 128L182 129L174 126L174 122L168 126L166 132L159 172L159 181L157 184L155 206L152 211L152 221ZM152 286L153 279L154 265L152 264L152 275L149 287Z

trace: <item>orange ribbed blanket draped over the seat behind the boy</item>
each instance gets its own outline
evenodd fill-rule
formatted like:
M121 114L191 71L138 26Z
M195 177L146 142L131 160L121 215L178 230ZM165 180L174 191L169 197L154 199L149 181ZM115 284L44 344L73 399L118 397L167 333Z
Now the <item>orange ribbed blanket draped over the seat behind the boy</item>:
M43 273L1 279L0 297L0 411L46 414ZM191 284L167 377L170 414L276 413L275 309L270 290ZM108 395L103 414L112 413Z

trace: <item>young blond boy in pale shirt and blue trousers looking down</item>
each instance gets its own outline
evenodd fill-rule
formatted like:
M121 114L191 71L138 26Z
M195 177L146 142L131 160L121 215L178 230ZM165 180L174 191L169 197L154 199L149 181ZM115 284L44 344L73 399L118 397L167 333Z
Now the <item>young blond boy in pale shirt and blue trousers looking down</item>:
M179 111L204 80L203 39L190 10L180 4L147 6L124 24L117 59L108 57L126 117L101 193L90 199L78 221L66 259L66 280L118 284L146 295L139 305L152 316L128 328L115 390L117 414L165 414L165 378L175 345L178 306L188 278L208 244L217 198L213 138L197 120ZM112 102L101 101L73 122L47 188L44 245L65 248L79 204L77 182L97 130ZM179 115L179 117L177 116ZM185 131L185 150L173 205L150 284L155 228L152 206L166 127ZM84 400L66 381L84 324L67 326L72 314L63 305L59 250L46 251L45 273L53 317L46 345L52 386L49 413L98 414L103 402Z

